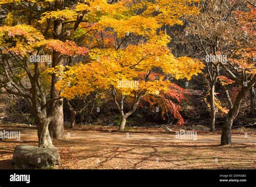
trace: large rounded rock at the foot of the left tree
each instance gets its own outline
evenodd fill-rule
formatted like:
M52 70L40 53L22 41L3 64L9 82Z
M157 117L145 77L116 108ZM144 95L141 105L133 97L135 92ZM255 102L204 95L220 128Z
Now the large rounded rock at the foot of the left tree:
M14 149L12 163L17 169L44 169L60 164L60 156L55 149L19 145Z

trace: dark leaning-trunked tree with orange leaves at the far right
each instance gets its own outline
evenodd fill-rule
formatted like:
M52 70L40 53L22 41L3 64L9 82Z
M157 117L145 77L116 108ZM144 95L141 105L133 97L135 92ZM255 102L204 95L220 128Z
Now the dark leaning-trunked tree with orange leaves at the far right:
M240 16L242 16L242 18L246 21L245 25L255 21L255 9L251 3L246 2L246 5L248 8L250 8L250 14L245 12L240 14ZM256 83L256 68L253 60L255 52L255 31L252 31L250 28L248 28L248 30L251 31L245 31L240 25L241 23L244 25L244 23L240 22L239 24L239 19L236 19L236 21L238 22L240 32L244 32L244 34L237 32L236 37L234 37L237 41L235 43L235 49L232 50L232 58L227 64L221 63L221 66L223 66L225 71L227 71L227 74L232 78L232 80L239 84L240 90L234 99L232 108L228 111L225 118L223 131L221 133L221 145L232 143L231 128L234 119L239 113L241 100L244 98L245 93L248 90L251 90ZM237 28L238 31L239 28Z

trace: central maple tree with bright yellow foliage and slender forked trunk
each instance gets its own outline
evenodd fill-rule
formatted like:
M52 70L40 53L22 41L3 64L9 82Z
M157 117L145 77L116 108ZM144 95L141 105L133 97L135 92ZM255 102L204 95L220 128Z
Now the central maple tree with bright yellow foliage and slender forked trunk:
M108 10L112 10L111 13ZM90 62L68 67L62 74L58 72L64 67L59 66L52 73L62 77L56 86L62 90L63 97L89 95L96 88L107 90L120 112L119 129L124 130L126 119L136 111L145 95L170 91L170 77L190 80L201 72L203 63L199 60L174 57L167 48L170 37L159 30L163 25L182 24L181 16L198 13L198 10L187 6L186 1L122 1L100 6L98 11L102 11L103 16L87 23L90 30L96 30L96 35L100 33L89 54ZM89 11L87 17L91 18L91 13L95 14ZM82 30L79 32L86 33ZM132 105L125 111L125 99L130 98L133 98Z

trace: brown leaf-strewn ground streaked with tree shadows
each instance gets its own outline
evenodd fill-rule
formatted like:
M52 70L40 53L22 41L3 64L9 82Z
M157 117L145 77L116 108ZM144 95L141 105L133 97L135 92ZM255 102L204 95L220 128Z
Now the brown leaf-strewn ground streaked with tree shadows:
M0 131L19 131L21 139L0 140L0 169L13 169L17 145L37 146L36 127L0 124ZM245 136L245 132L247 136ZM159 128L77 126L64 140L53 140L62 165L56 169L255 169L256 130L234 130L231 146L220 146L220 131L197 131L196 140L176 139Z

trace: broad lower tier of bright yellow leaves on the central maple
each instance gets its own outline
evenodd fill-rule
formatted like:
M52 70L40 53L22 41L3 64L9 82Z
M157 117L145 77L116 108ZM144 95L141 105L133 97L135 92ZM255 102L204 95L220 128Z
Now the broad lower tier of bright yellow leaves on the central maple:
M145 78L152 68L160 68L175 78L190 80L204 66L200 61L188 57L176 59L167 48L154 51L158 46L147 48L147 45L131 45L123 50L92 50L91 63L77 64L62 75L62 80L57 84L63 90L62 96L73 98L95 89L112 87L123 95L133 96L134 91L142 90L158 95L160 91L167 91L169 84L165 75Z

